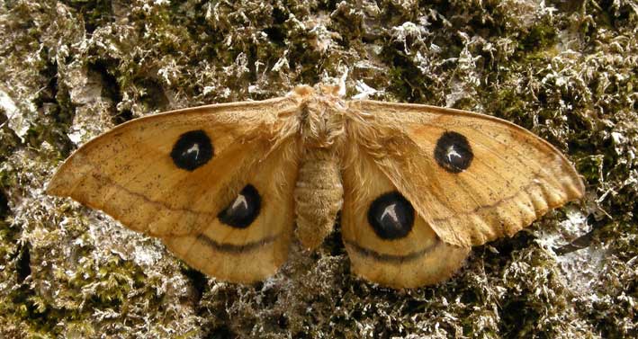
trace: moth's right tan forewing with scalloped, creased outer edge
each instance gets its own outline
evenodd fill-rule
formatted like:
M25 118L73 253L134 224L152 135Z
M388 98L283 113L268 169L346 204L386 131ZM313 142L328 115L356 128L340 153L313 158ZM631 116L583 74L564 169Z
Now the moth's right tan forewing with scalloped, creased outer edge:
M427 105L352 102L349 138L437 236L481 245L512 236L584 186L562 154L526 129Z

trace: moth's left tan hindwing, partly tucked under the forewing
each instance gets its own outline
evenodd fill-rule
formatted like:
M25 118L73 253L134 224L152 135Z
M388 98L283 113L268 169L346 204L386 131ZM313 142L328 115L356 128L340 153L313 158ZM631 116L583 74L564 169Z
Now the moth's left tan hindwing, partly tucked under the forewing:
M163 237L168 248L225 281L261 281L276 272L288 256L294 226L293 149L288 142L253 168L247 185L201 232Z

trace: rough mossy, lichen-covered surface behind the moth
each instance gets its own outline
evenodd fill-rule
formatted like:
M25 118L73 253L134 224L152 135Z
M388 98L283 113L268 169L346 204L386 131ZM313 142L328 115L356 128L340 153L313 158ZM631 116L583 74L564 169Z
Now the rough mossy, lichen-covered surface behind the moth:
M0 56L0 337L638 336L636 1L4 1ZM351 274L338 229L241 286L44 194L123 121L346 71L348 95L531 129L587 197L397 291Z

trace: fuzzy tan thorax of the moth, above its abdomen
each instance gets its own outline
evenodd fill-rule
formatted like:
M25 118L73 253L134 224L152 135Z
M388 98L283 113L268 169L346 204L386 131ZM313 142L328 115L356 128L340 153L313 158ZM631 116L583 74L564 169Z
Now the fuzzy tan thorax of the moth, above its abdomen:
M298 117L305 147L333 148L344 137L346 102L338 86L295 88L292 96L300 103Z

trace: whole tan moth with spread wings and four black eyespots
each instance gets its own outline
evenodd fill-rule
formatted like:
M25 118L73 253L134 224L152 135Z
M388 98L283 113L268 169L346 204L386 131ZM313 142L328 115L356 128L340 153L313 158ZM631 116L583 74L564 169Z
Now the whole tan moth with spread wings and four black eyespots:
M341 211L352 271L397 289L446 280L472 245L583 195L565 156L506 120L341 91L130 120L69 156L48 192L244 283L277 272L294 238L316 249Z

